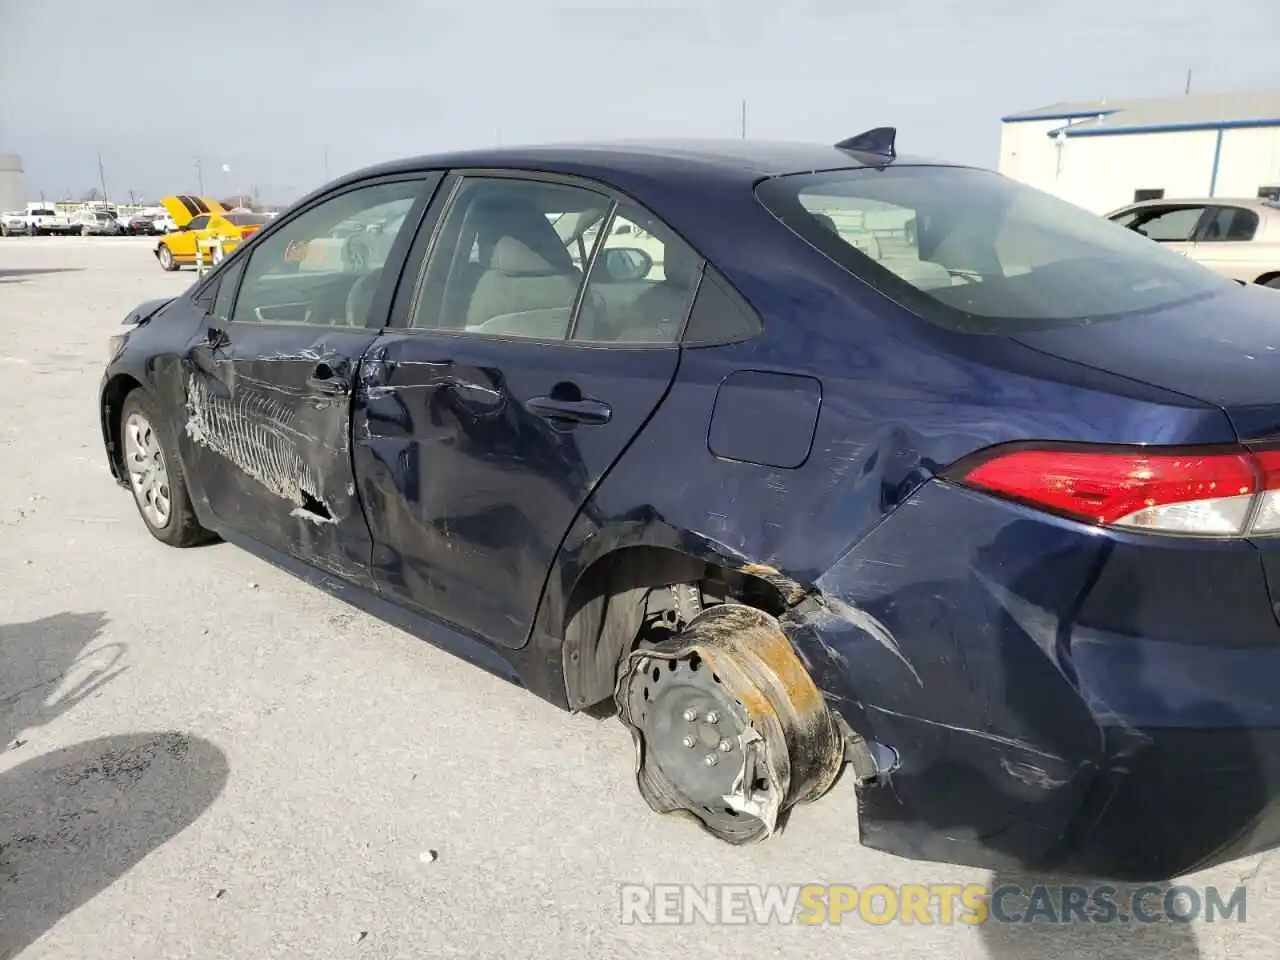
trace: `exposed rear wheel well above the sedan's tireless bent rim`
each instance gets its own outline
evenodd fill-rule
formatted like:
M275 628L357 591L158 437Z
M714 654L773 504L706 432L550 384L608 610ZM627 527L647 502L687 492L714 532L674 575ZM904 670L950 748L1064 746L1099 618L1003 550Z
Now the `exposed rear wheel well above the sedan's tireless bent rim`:
M657 588L696 585L709 603L731 599L781 616L790 605L787 591L745 567L664 547L626 547L595 561L577 579L564 608L570 708L594 708L613 696L618 663L635 645Z

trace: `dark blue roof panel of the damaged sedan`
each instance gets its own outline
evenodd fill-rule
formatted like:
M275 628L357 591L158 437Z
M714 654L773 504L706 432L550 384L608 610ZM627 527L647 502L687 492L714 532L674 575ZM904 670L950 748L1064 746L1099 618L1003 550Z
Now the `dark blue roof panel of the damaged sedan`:
M899 156L895 165L940 165ZM722 178L755 182L768 177L877 165L876 157L835 145L758 140L595 141L492 147L429 154L356 170L342 182L421 169L483 168L534 170L611 179L612 175Z

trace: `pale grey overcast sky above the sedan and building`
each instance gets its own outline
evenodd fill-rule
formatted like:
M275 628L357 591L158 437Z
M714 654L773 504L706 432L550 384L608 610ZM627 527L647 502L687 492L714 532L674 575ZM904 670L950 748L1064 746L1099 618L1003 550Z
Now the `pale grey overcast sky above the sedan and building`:
M494 142L748 136L995 165L1056 100L1280 87L1276 0L0 0L32 197L259 189ZM229 166L224 172L223 166Z

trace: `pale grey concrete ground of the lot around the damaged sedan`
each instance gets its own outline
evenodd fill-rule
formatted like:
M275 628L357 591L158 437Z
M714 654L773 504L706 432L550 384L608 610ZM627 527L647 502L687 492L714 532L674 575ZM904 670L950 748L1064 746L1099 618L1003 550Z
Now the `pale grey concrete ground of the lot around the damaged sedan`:
M161 547L97 385L125 311L192 278L147 241L0 239L0 957L1277 955L1257 859L1188 881L1247 878L1243 925L622 924L626 883L1046 878L864 850L847 781L719 845L648 810L614 721L233 547Z

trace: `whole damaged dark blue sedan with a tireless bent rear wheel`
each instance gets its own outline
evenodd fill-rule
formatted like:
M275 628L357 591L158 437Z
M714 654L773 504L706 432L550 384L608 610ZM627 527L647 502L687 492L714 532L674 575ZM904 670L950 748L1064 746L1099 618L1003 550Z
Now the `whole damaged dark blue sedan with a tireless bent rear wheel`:
M1167 878L1280 842L1274 300L890 129L476 151L140 307L101 426L723 841L849 768L876 849Z

